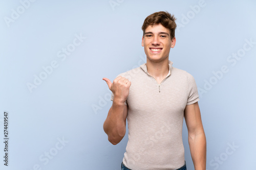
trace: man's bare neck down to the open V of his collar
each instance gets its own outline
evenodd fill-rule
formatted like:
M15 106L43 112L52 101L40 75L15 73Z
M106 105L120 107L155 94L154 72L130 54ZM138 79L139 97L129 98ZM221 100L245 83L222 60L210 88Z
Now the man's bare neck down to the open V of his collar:
M146 61L147 72L156 79L160 84L163 79L166 78L169 72L169 60L163 60L160 62L152 62L151 60Z

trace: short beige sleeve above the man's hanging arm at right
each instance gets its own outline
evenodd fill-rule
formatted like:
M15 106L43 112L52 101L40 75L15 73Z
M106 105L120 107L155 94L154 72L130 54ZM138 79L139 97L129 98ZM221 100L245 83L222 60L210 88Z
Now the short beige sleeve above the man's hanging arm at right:
M194 104L199 101L197 84L194 77L187 73L188 98L187 105Z

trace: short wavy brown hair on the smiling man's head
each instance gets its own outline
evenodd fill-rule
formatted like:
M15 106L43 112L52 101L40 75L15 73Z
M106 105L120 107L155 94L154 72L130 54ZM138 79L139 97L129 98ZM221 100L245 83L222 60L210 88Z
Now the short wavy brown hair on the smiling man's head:
M155 12L147 16L144 20L144 23L141 27L143 31L143 36L145 35L145 30L148 26L153 26L155 24L158 25L159 23L161 23L163 27L170 30L170 39L173 39L175 37L175 29L177 27L175 20L176 18L174 17L174 15L171 15L167 11Z

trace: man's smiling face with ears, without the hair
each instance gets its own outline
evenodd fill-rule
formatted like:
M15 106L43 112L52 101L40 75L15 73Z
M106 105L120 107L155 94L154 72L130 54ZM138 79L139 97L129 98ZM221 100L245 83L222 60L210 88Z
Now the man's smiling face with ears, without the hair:
M170 48L173 48L175 43L175 37L170 39L169 29L159 23L146 28L141 45L144 46L147 59L160 62L168 60Z

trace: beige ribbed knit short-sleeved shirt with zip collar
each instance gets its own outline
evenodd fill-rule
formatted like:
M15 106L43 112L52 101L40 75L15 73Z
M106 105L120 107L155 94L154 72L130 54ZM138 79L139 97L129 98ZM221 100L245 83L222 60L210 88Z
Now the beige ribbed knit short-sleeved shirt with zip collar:
M184 109L199 101L199 95L193 76L172 65L169 61L170 72L160 84L147 74L145 63L118 75L132 83L125 102L129 140L123 163L133 170L184 165Z

